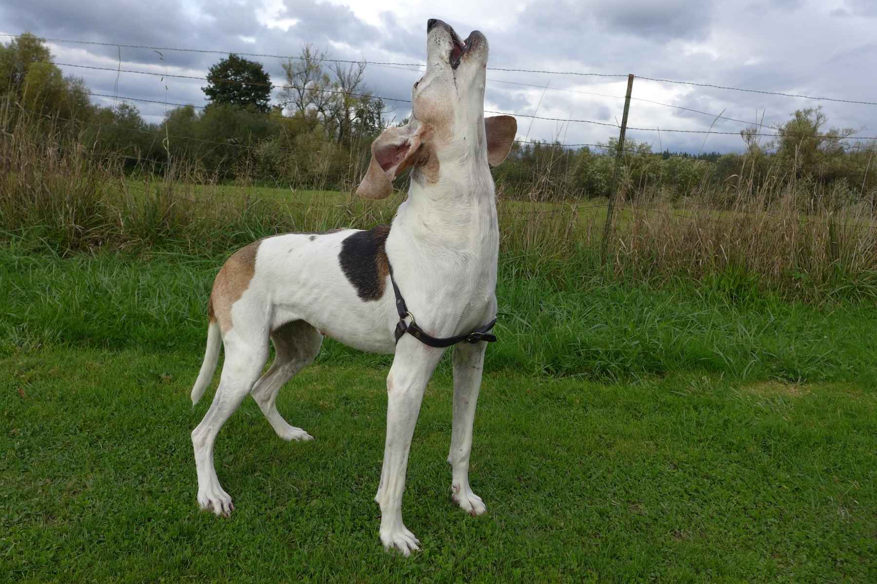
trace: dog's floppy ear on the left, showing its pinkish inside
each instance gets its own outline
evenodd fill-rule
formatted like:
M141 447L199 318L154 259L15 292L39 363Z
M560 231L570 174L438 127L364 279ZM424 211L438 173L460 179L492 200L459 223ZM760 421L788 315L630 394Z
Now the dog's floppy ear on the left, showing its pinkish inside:
M393 179L405 172L420 148L420 132L410 124L388 128L372 142L372 161L356 193L364 199L386 199L393 193Z

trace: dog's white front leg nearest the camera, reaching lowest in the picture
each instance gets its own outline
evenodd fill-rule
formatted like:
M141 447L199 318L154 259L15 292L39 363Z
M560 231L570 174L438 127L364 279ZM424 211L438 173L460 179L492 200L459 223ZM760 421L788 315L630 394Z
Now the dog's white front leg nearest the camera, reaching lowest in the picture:
M374 501L381 505L381 543L385 549L396 548L406 556L419 549L420 543L402 522L402 494L411 436L426 383L443 352L406 334L396 346L396 357L387 376L387 440L381 485Z

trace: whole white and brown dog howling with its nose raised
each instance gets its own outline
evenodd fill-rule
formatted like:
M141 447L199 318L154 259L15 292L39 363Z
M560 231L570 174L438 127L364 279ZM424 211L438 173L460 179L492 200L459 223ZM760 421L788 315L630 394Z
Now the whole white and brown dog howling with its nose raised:
M496 224L489 165L509 153L517 124L484 118L488 41L463 41L440 20L427 23L424 76L412 89L410 123L389 128L372 144L372 160L357 193L381 199L392 180L411 169L410 190L391 226L368 231L268 237L235 252L210 294L210 327L196 403L225 347L222 377L210 410L192 432L198 503L227 516L232 498L219 485L213 443L219 428L252 394L284 440L311 440L277 412L283 383L317 356L330 336L363 351L395 353L387 377L387 440L381 484L381 542L408 555L417 538L402 522L402 494L411 436L426 383L444 353L403 334L417 316L417 334L451 337L496 317ZM394 281L398 291L394 293ZM397 310L397 305L406 306ZM401 320L400 315L404 318ZM402 328L400 336L396 330ZM407 332L411 333L412 329ZM261 375L268 338L276 358ZM470 337L453 349L453 432L447 461L453 501L472 515L486 509L469 487L475 402L487 342Z

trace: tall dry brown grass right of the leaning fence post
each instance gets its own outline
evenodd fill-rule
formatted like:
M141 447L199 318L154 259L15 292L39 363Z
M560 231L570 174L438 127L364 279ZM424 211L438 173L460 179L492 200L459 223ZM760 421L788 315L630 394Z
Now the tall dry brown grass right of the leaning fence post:
M866 193L781 170L756 184L743 168L724 188L679 199L658 186L619 193L610 241L616 275L722 280L795 297L877 299L877 217ZM859 195L859 196L857 196Z

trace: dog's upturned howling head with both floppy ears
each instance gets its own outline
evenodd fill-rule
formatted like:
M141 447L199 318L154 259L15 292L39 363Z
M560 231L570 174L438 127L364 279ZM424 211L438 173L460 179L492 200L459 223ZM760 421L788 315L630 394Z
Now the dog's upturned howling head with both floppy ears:
M411 119L384 130L372 143L372 160L356 190L367 199L393 192L393 179L409 168L412 179L435 182L442 165L503 162L517 132L512 116L484 118L488 39L473 31L466 40L451 26L426 23L426 71L411 88Z

